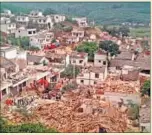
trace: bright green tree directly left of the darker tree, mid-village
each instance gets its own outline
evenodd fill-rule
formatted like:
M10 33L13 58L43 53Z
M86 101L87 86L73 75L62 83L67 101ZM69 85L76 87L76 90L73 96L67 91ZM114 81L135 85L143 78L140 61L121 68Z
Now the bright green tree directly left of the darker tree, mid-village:
M94 53L98 50L97 43L95 42L83 42L81 45L79 45L76 50L78 52L86 52L88 53L88 60L93 61L94 60Z

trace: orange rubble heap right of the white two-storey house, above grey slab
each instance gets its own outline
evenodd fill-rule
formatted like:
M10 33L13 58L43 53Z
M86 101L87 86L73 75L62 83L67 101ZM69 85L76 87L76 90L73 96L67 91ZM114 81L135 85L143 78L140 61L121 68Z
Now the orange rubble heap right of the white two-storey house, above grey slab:
M140 90L139 82L125 82L120 79L108 78L100 85L101 89L106 92L117 92L125 94L137 93Z

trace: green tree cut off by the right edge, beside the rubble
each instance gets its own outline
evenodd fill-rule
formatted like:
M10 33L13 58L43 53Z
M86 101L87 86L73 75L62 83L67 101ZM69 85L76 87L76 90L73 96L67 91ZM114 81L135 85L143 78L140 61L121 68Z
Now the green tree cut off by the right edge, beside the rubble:
M150 80L144 82L144 85L141 87L141 95L150 96Z

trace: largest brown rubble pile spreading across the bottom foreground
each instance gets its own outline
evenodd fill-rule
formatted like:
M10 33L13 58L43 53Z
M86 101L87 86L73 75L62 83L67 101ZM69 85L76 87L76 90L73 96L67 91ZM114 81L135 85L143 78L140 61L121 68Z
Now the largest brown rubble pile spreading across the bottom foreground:
M28 119L36 122L38 118L37 122L63 133L99 132L99 128L105 128L107 132L124 132L127 128L125 114L109 102L93 98L92 91L90 93L87 89L79 89L66 92L60 101L36 100L37 107L32 111L34 116L25 117L13 112L5 117L13 123Z

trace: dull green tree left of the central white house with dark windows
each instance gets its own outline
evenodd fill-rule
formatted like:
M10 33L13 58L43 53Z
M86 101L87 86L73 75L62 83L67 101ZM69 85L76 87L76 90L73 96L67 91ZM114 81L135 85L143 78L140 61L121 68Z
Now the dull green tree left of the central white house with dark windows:
M65 70L61 73L61 77L66 77L69 79L72 79L75 75L75 77L80 73L80 68L77 66L69 65L65 68Z

